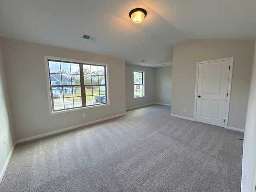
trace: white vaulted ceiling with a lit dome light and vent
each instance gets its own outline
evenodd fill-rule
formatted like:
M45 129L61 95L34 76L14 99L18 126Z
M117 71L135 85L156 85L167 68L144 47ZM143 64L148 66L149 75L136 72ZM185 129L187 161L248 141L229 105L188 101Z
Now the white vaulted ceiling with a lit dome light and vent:
M139 24L134 8L147 11ZM0 0L0 36L167 66L189 39L255 40L256 0Z

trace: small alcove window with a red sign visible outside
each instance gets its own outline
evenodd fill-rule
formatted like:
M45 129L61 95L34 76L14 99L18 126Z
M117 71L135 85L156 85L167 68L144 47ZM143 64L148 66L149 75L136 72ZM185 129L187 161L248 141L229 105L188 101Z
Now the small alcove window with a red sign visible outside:
M134 98L144 96L144 72L134 71Z

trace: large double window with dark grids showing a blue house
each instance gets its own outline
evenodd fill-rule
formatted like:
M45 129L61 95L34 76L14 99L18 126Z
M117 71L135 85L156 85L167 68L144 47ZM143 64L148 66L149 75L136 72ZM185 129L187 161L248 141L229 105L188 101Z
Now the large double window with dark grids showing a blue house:
M107 103L106 66L48 59L52 111Z

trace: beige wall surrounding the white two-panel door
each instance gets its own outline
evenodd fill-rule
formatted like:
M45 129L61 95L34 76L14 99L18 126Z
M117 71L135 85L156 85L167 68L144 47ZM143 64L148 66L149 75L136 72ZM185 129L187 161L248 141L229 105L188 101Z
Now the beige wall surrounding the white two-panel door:
M247 40L188 40L174 45L171 113L194 118L196 62L234 57L228 126L244 129L253 50L254 41Z

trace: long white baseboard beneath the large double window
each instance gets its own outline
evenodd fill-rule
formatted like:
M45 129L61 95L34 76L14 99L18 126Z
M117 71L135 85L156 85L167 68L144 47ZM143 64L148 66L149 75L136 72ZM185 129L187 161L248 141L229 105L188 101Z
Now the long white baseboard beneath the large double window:
M37 136L25 138L25 139L21 139L21 140L16 141L16 143L22 143L22 142L30 141L30 140L33 140L33 139L38 139L38 138L41 138L41 137L53 135L53 134L56 134L56 133L68 131L68 130L71 130L71 129L75 129L75 128L78 128L78 127L90 125L90 124L93 124L93 123L109 120L109 119L120 117L120 116L124 116L124 115L126 115L126 113L115 115L115 116L111 116L111 117L100 119L100 120L96 120L96 121L92 121L92 122L88 122L88 123L84 123L84 124L80 124L80 125L76 125L76 126L72 126L72 127L68 127L68 128L64 128L64 129L60 129L60 130L56 130L56 131L52 131L52 132L49 132L49 133L40 134L40 135L37 135Z

